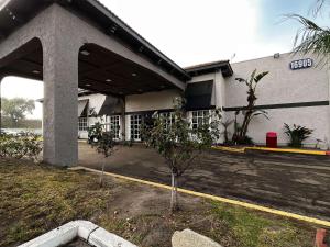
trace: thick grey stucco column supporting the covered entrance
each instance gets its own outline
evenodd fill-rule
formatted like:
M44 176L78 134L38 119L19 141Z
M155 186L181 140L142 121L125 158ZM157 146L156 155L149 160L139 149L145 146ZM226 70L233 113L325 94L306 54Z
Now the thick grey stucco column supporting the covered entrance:
M78 162L78 52L58 32L43 43L44 161L56 166ZM65 40L65 38L64 38Z

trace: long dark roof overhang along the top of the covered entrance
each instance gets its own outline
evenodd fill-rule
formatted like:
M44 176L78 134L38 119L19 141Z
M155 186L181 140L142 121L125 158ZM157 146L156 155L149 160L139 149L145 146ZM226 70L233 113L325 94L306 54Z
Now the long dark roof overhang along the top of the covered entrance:
M144 40L109 9L97 0L6 0L0 5L0 40L14 32L46 7L58 3L89 21L107 35L119 38L125 46L146 57L166 72L182 81L190 76L156 47Z

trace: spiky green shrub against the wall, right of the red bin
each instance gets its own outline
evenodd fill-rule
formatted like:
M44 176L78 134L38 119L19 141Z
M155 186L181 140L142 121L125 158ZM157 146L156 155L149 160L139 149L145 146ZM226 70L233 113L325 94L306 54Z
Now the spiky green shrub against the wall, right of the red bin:
M290 147L301 147L302 142L307 139L314 132L314 130L307 128L305 126L294 124L290 127L288 124L284 124L285 134L290 138L289 146Z

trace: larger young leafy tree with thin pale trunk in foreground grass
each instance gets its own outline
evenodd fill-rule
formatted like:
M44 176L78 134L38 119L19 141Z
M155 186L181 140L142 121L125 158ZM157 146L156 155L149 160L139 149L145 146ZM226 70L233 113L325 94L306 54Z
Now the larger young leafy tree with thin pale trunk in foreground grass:
M175 100L175 121L168 124L168 120L158 113L153 115L152 126L142 128L143 138L147 146L155 148L166 160L172 176L170 211L178 209L178 182L204 150L219 138L220 113L217 110L213 120L201 123L193 128L187 114L184 111L184 101Z

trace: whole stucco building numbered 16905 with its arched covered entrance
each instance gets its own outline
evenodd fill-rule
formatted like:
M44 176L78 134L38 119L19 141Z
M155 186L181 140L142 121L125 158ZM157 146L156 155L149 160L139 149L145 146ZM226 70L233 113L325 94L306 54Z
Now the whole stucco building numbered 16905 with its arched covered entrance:
M293 68L300 69L288 67L293 60ZM278 132L286 143L285 122L315 128L310 144L329 139L329 75L316 64L311 55L280 55L184 69L97 0L0 3L0 81L7 76L44 81L43 158L58 166L77 164L77 128L86 128L94 121L89 116L107 115L106 122L124 130L125 139L135 141L143 117L155 110L169 114L179 94L188 97L193 124L215 108L233 117L245 103L245 89L234 78L248 77L254 68L271 71L257 105L270 111L271 121L254 120L249 134L256 143L264 143L267 131ZM79 88L107 97L80 96L78 105ZM95 106L94 98L102 105ZM77 115L87 119L78 125Z

